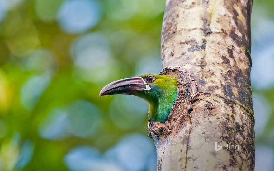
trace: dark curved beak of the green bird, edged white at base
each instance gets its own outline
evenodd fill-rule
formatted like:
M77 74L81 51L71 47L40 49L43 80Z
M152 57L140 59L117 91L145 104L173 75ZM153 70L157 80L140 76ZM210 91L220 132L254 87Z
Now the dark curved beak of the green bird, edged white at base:
M99 96L116 95L116 94L132 94L136 91L151 90L150 86L142 77L125 78L114 81L106 85Z

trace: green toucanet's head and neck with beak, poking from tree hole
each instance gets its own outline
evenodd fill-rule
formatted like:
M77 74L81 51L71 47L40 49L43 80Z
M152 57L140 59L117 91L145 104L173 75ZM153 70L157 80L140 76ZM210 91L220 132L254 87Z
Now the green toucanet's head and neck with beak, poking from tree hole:
M164 123L177 99L177 88L178 77L175 75L144 74L111 82L99 96L127 94L143 98L149 103L150 120Z

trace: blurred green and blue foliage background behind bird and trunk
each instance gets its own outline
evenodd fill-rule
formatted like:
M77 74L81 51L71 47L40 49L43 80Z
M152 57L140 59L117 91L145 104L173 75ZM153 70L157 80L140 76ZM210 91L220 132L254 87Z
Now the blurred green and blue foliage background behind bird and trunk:
M0 0L0 170L155 171L148 104L99 98L161 70L164 0ZM274 168L274 1L254 0L255 170ZM134 155L133 155L134 154Z

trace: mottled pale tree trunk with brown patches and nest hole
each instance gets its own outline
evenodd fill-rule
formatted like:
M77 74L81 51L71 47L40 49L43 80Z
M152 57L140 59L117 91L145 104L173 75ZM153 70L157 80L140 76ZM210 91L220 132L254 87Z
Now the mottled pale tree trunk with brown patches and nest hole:
M179 77L179 96L168 121L149 122L158 170L254 170L251 7L252 0L166 1L162 74Z

